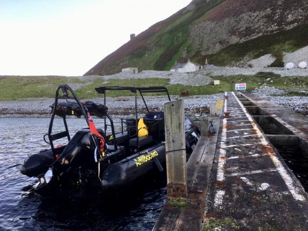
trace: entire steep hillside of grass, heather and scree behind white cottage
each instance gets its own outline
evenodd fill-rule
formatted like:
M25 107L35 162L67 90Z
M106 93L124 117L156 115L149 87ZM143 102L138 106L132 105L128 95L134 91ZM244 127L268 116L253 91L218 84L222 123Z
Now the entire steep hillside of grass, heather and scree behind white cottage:
M176 61L243 65L264 54L282 59L308 45L308 1L194 0L114 51L85 75L127 66L168 70Z

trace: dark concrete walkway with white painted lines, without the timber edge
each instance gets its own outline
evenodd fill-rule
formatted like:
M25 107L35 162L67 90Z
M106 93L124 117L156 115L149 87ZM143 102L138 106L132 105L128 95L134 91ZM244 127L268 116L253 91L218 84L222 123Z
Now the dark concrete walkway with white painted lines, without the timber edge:
M230 118L222 122L203 227L307 230L306 192L244 105L258 104L228 93L224 111Z

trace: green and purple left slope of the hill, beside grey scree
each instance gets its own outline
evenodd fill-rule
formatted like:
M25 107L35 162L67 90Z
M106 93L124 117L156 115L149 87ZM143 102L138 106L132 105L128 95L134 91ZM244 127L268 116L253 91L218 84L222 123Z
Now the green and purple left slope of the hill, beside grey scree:
M199 3L196 9L180 10L137 35L105 57L85 75L113 74L128 66L137 66L140 70L170 69L175 61L179 60L185 48L189 53L193 49L191 42L187 40L191 24L222 2L224 0L210 1L207 4Z

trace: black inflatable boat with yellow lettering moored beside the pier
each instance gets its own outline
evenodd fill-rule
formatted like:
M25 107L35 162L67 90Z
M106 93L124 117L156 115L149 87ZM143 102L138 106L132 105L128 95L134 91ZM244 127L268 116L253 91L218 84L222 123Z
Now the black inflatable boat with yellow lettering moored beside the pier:
M34 185L36 192L43 194L73 185L100 185L103 190L118 190L147 177L151 172L164 171L164 113L149 111L144 93L164 92L170 101L167 89L100 87L95 90L104 95L104 105L91 101L82 103L69 86L57 87L55 102L51 105L49 130L44 136L44 141L51 148L26 158L21 167L22 174L38 178ZM136 114L134 118L121 119L121 131L117 133L107 113L106 91L109 90L126 90L135 96ZM147 110L142 118L138 118L137 94L143 99ZM59 133L53 133L52 130L56 115L64 123L64 131ZM102 129L95 127L92 115L104 120ZM89 126L76 132L72 138L66 121L70 116L83 116ZM196 145L200 131L187 117L185 136L189 153ZM63 138L68 140L66 145L54 145L56 140Z

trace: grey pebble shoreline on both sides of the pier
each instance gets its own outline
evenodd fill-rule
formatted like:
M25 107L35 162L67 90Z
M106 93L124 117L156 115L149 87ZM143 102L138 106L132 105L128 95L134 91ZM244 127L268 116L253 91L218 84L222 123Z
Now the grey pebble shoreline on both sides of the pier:
M290 110L297 111L308 116L308 97L287 97L273 96L283 94L282 90L270 87L255 89L253 93L259 95L265 100L272 101ZM184 99L186 113L192 113L200 116L209 112L209 105L222 99L223 94L200 95L194 97L177 97L171 95L171 100ZM90 99L91 101L103 104L103 98ZM50 105L54 99L26 99L23 101L1 101L0 118L49 118ZM134 113L133 97L106 98L108 112L114 115L127 115ZM147 97L146 102L151 110L162 110L166 97ZM142 99L138 99L139 112L144 113L146 108Z

